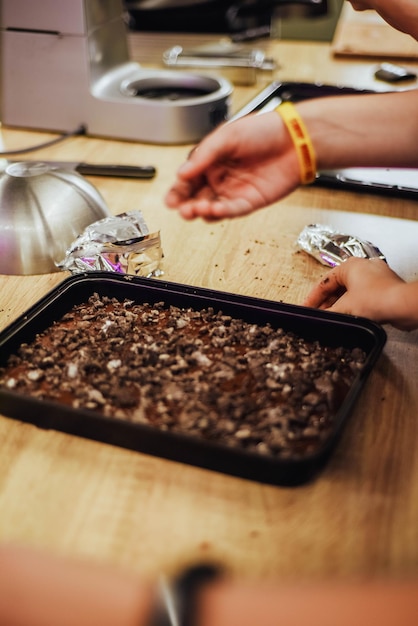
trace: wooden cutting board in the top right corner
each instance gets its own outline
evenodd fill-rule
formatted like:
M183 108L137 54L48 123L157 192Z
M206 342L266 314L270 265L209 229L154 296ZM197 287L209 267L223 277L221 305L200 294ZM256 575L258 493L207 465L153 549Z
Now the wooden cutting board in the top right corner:
M335 56L418 59L418 42L397 31L375 11L354 11L345 4L331 49Z

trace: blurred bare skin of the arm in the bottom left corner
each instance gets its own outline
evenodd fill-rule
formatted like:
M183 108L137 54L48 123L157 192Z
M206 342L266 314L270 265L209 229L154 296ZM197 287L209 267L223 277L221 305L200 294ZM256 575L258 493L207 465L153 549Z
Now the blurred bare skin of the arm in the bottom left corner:
M2 626L140 626L154 593L111 567L0 547Z

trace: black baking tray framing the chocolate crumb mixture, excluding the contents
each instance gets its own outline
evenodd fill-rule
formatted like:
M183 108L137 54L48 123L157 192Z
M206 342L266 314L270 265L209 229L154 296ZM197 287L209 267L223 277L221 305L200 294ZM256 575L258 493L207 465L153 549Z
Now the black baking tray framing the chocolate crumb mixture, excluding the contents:
M275 485L305 483L324 466L334 449L354 403L386 342L383 328L369 320L327 311L283 304L162 280L138 278L109 272L91 272L65 279L37 304L0 333L0 365L62 317L75 304L93 294L135 302L160 302L203 309L212 306L224 314L246 321L293 331L324 345L359 347L366 353L358 373L334 420L326 441L315 453L302 458L278 459L229 448L197 437L163 432L147 425L132 424L79 410L52 401L31 398L0 389L0 412L11 418L72 435L136 450L178 462L196 465L242 478Z

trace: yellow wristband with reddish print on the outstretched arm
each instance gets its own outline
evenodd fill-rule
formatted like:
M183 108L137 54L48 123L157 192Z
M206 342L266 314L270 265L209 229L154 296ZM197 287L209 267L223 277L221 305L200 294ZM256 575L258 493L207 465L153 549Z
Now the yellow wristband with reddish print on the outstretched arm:
M295 146L302 185L309 185L316 177L316 156L306 126L291 102L283 102L276 111L280 114Z

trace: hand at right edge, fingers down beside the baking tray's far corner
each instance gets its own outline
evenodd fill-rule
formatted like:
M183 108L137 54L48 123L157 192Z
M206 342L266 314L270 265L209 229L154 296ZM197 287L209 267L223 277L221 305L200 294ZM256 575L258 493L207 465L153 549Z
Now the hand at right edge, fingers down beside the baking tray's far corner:
M328 272L303 304L411 330L418 326L417 287L405 283L381 259L352 257Z

